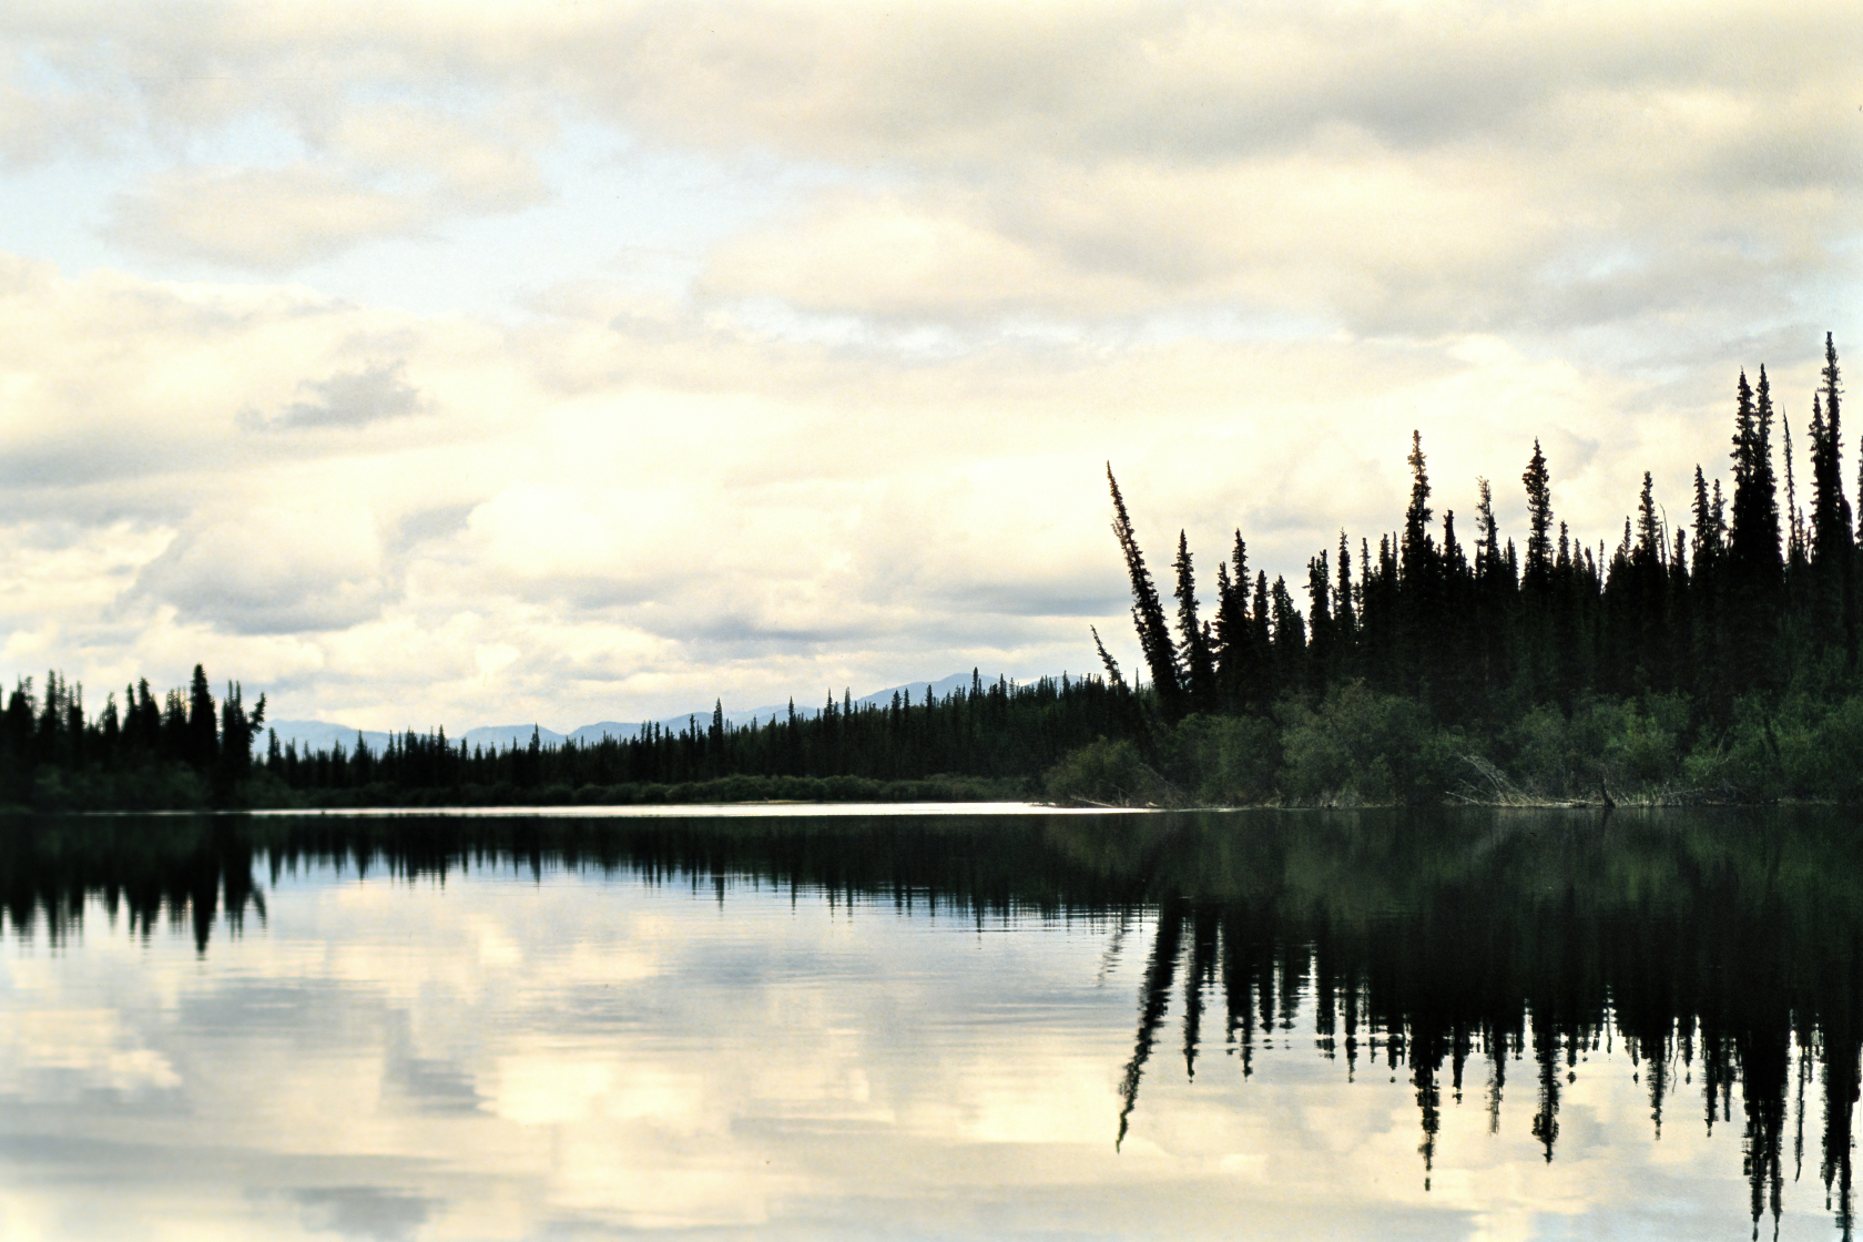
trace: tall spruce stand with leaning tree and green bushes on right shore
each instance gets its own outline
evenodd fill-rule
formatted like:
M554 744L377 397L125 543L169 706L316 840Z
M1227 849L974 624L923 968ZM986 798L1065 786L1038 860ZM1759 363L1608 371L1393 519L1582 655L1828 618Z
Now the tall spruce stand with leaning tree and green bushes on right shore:
M1757 384L1742 372L1729 484L1697 466L1692 520L1671 527L1645 473L1615 547L1557 520L1539 441L1520 475L1522 546L1502 534L1485 479L1464 533L1453 510L1438 523L1412 434L1401 529L1356 546L1341 531L1297 585L1252 572L1237 531L1213 613L1181 533L1168 609L1108 467L1149 685L1127 685L1099 644L1133 741L1075 756L1058 784L1116 793L1094 776L1116 769L1161 793L1174 775L1209 786L1218 763L1217 793L1244 801L1433 799L1470 778L1496 795L1608 799L1613 776L1738 797L1863 793L1863 542L1841 410L1826 337L1802 506L1788 419L1764 367ZM1215 741L1211 719L1230 721Z

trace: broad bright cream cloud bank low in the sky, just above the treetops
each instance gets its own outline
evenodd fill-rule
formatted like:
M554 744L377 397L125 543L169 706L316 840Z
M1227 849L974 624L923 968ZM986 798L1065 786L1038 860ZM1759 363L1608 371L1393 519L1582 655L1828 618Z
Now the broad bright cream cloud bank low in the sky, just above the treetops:
M6 458L39 473L0 560L15 670L160 685L205 659L292 717L451 730L1081 670L1090 622L1125 655L1108 458L1159 564L1183 527L1207 572L1241 527L1272 577L1341 525L1377 542L1412 426L1438 508L1466 521L1487 475L1513 531L1541 436L1585 540L1615 538L1643 467L1679 510L1727 436L1727 374L1652 384L1494 335L904 359L622 290L553 305L497 328L20 274ZM1768 359L1787 410L1818 346ZM240 436L250 410L274 434ZM145 438L155 467L108 456ZM104 456L54 452L78 441Z

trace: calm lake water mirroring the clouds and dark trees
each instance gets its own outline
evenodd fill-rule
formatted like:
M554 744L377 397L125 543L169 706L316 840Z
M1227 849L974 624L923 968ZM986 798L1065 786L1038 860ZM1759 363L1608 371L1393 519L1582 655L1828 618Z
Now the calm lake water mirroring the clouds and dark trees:
M1839 814L0 823L0 1236L1850 1231Z

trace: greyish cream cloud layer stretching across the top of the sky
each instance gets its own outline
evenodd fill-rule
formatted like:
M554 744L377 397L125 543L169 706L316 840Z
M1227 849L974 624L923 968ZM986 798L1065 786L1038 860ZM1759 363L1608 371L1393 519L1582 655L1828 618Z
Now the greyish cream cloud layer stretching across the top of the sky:
M1667 279L1697 255L1785 311L1854 263L1863 37L1843 6L196 17L121 15L99 41L37 9L0 69L34 134L76 149L179 155L265 119L263 160L177 158L112 212L123 244L235 266L540 203L564 117L827 169L820 201L708 268L721 296L812 311L1192 300L1431 335L1699 311Z

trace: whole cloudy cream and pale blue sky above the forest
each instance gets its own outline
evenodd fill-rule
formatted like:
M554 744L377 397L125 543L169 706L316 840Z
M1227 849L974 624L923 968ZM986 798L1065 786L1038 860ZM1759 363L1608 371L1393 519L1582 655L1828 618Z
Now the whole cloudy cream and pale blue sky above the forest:
M1518 536L1537 438L1615 546L1863 341L1854 19L13 0L0 676L458 732L1081 672L1108 462L1155 570L1304 581L1412 430L1438 516Z

